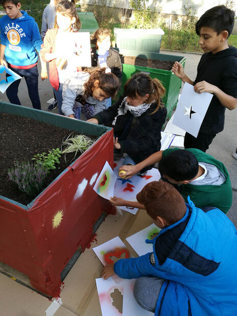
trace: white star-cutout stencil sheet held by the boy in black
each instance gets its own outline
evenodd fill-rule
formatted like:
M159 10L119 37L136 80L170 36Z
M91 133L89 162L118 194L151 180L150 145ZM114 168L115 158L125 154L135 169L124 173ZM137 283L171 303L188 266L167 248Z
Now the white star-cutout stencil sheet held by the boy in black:
M194 86L185 82L173 123L197 137L212 96L208 92L195 92Z

